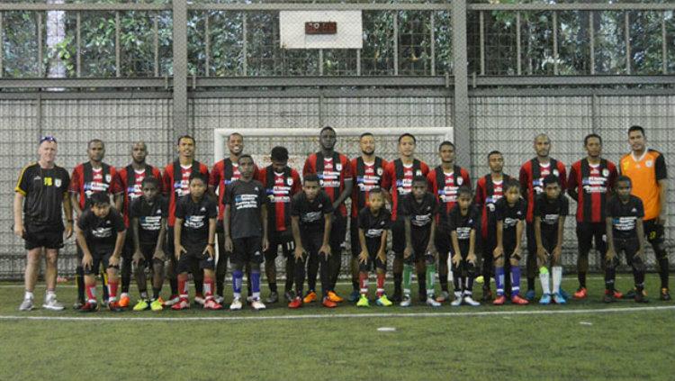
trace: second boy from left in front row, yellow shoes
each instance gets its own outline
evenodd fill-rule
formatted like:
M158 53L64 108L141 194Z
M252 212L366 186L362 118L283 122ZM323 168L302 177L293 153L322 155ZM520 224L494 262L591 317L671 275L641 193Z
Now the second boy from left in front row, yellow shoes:
M136 282L139 285L140 294L139 303L133 307L134 311L147 309L162 311L164 304L159 293L164 282L168 203L166 198L159 194L159 184L157 177L143 178L140 183L143 194L133 200L130 205L134 246L132 261L136 265ZM152 299L148 299L146 268L152 271Z

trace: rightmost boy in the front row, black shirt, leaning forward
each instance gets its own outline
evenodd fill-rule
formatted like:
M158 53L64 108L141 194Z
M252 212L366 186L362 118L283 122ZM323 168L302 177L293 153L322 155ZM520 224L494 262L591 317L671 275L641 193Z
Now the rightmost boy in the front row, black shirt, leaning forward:
M617 254L624 251L626 262L633 268L635 302L648 303L644 296L644 206L642 200L631 195L631 179L617 178L617 195L607 204L607 267L605 268L605 297L611 303L614 298L614 281L617 277Z

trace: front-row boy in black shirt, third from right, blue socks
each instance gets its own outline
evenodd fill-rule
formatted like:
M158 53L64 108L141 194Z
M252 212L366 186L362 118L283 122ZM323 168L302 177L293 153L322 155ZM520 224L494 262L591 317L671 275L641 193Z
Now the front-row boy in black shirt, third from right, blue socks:
M527 201L520 196L520 183L516 179L509 179L504 185L504 197L495 204L497 217L497 247L494 249L495 282L497 283L497 298L492 302L502 305L506 302L504 290L508 291L513 304L529 304L527 299L520 297L520 267L522 258L523 231L527 215ZM506 260L508 259L508 260ZM505 282L505 268L510 268L510 277ZM506 286L505 286L506 285Z

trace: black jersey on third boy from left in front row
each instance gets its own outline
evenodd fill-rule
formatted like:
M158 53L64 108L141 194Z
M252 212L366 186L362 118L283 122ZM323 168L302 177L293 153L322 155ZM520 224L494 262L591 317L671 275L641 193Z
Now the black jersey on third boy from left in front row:
M209 240L209 220L218 217L216 202L206 195L196 203L192 196L183 197L175 205L175 218L183 220L181 244L206 246Z

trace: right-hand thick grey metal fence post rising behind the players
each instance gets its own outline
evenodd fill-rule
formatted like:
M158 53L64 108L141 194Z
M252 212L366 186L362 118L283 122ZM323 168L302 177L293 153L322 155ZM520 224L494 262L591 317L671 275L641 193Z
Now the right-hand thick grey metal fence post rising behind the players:
M455 113L453 131L457 147L457 161L464 168L471 163L471 119L469 113L468 61L466 59L466 0L455 0L453 5L453 59L455 61Z

